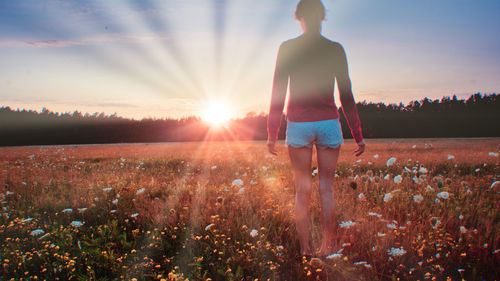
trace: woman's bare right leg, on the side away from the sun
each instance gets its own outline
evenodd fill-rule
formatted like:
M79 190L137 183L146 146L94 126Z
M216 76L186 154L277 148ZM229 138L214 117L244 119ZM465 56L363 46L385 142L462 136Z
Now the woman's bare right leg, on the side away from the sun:
M335 179L335 169L337 168L340 147L317 149L317 151L319 194L321 199L321 229L323 236L320 255L329 255L333 250L333 238L337 228L333 200L333 180Z

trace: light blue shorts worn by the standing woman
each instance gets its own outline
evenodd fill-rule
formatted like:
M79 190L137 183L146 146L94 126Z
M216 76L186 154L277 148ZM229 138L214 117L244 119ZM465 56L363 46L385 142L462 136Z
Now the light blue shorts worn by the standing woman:
M337 148L344 144L339 119L313 122L292 122L287 120L286 145L295 148L316 149Z

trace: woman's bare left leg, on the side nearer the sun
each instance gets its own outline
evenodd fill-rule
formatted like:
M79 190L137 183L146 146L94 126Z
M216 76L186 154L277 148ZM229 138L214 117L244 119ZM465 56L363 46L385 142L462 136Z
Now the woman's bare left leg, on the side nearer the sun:
M288 146L295 177L295 223L300 241L300 253L310 255L309 200L311 198L312 148Z

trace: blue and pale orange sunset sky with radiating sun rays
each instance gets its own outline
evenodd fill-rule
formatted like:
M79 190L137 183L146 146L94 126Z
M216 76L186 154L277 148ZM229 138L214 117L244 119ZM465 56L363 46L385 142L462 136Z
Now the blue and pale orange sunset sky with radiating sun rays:
M266 112L291 0L0 0L0 107L141 118ZM500 1L324 0L356 101L498 93ZM338 91L335 91L338 106Z

